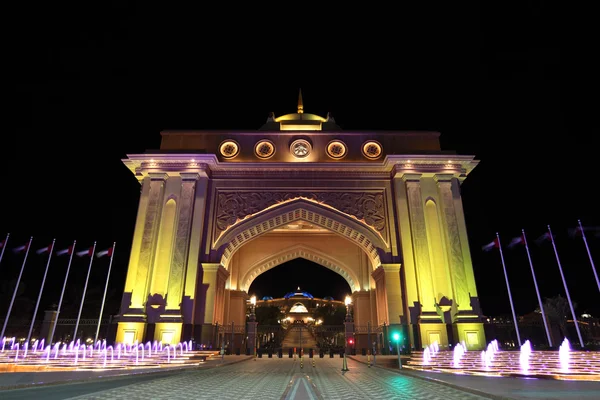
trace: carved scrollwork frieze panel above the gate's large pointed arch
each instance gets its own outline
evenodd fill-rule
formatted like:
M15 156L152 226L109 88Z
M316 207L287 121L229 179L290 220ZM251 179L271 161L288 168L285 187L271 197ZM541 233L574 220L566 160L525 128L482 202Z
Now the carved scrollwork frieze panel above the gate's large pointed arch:
M267 207L304 198L326 204L338 211L364 221L386 237L383 192L225 192L219 193L217 229L227 230L238 220L260 212Z

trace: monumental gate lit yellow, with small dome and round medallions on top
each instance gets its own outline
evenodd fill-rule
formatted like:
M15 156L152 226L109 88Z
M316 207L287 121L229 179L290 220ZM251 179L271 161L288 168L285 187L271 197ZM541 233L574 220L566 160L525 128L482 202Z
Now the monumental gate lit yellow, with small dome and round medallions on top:
M253 279L303 257L348 281L357 347L386 324L484 348L459 187L477 161L438 133L345 132L300 100L258 131L161 135L124 160L142 191L117 341L209 344L245 324Z

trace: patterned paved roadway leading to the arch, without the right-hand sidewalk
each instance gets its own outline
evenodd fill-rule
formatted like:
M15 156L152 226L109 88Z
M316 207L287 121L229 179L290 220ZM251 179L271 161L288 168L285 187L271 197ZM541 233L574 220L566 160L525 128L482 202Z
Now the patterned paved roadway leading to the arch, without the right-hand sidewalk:
M232 356L235 357L235 356ZM485 397L406 377L381 368L348 360L349 371L342 373L342 360L308 357L249 360L211 369L185 371L167 377L132 377L131 381L95 380L83 384L57 385L6 391L9 399L461 399ZM314 386L313 386L314 385ZM86 388L84 392L83 388ZM79 392L77 390L79 390ZM82 393L86 393L83 394Z

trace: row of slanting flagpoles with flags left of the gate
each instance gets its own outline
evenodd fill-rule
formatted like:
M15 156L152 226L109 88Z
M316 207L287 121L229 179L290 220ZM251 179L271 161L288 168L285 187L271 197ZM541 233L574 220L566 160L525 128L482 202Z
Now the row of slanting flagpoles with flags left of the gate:
M2 263L2 258L4 257L4 251L6 250L6 248L8 246L9 238L10 238L10 233L7 234L6 238L0 242L0 263ZM17 283L16 283L15 289L13 291L12 299L10 300L10 305L8 306L8 312L6 313L6 317L4 318L4 325L2 326L2 332L0 332L0 338L4 337L4 332L5 332L6 326L8 324L8 319L10 317L13 304L15 302L15 297L17 296L17 291L19 289L19 284L21 283L21 277L23 276L23 271L25 269L25 264L27 262L27 256L29 255L29 250L31 249L32 242L33 242L33 236L31 238L29 238L29 241L26 244L12 249L13 252L15 252L15 253L25 252L25 256L23 258L23 263L21 264L21 271L19 272L19 277L17 278ZM40 293L38 294L37 303L36 303L35 309L33 311L33 318L31 319L31 325L29 326L29 333L27 334L27 341L25 343L29 343L29 341L31 340L31 333L33 332L33 325L35 323L35 318L37 316L38 308L40 306L40 300L42 298L44 284L46 283L46 276L48 274L48 268L50 267L50 260L52 259L52 254L54 252L55 243L56 243L56 239L52 240L52 243L50 245L48 245L46 247L42 247L41 249L38 249L36 251L37 254L48 253L48 261L46 262L46 270L44 271L44 277L42 278L42 285L40 287ZM56 324L58 322L58 316L60 314L60 308L62 306L62 300L63 300L63 296L65 294L65 289L67 287L67 280L69 278L69 271L71 269L71 262L73 261L74 254L76 254L79 257L85 257L85 256L90 257L90 263L88 266L87 276L85 278L85 285L83 287L83 295L81 296L81 304L79 305L79 313L77 314L77 322L75 323L75 331L73 333L73 340L75 340L75 338L77 337L77 330L79 329L79 321L81 319L81 311L83 310L83 302L85 300L85 292L87 291L87 285L88 285L88 281L90 279L90 272L92 271L92 262L94 261L94 254L96 255L97 258L104 257L104 256L110 257L110 261L108 264L108 273L106 275L106 284L104 286L104 295L102 296L102 306L100 307L100 317L98 318L98 326L96 328L96 337L94 338L94 343L98 341L98 335L100 334L100 322L102 321L102 313L104 312L104 302L106 300L106 293L108 291L108 280L110 279L110 270L112 267L113 256L115 254L116 242L113 243L112 247L110 247L106 250L98 251L98 252L96 252L96 242L94 242L94 245L89 247L88 249L82 250L82 251L77 251L77 252L75 251L76 244L77 244L77 241L74 240L73 244L71 246L67 247L66 249L59 250L56 252L57 256L69 255L69 264L67 265L67 272L65 273L65 280L63 282L62 291L60 293L60 300L58 301L56 317L52 324L48 343L52 343L52 339L54 338L54 330L56 329Z

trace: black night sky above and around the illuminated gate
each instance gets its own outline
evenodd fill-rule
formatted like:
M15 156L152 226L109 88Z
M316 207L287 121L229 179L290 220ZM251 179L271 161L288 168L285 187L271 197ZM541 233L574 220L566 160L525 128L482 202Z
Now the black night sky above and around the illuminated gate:
M60 248L74 239L101 249L116 241L107 313L120 302L139 200L121 159L158 148L163 129L258 129L271 111L294 112L302 88L306 112L331 112L344 129L436 130L444 149L481 160L462 194L485 314L510 308L498 252L481 246L496 232L507 244L522 228L533 242L547 224L579 311L600 314L583 242L567 235L579 218L600 226L591 117L598 101L588 97L597 79L589 51L575 51L565 28L565 15L577 10L542 1L292 11L249 3L235 12L125 1L43 7L7 14L0 235L11 233L10 247L33 235L35 249L52 238ZM598 257L600 239L588 239ZM564 295L551 246L531 245L542 296ZM529 312L536 297L526 255L505 249L505 257L517 312ZM60 293L66 260L54 260L44 304ZM3 307L20 262L7 252L0 264ZM24 274L33 301L44 262L32 254ZM107 260L94 263L88 294L97 299ZM86 260L74 270L65 301L76 304ZM347 290L339 282L332 295ZM96 303L84 313L94 317Z

